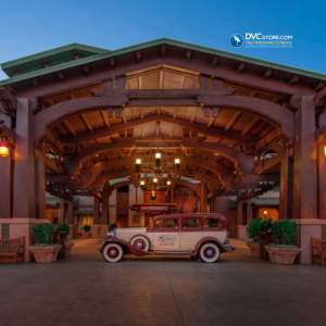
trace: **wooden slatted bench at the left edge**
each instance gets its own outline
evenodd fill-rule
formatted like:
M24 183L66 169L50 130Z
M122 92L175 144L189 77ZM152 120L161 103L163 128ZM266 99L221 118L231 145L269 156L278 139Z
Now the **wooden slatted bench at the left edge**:
M25 237L14 239L0 239L0 260L2 258L14 258L17 262L25 262Z

